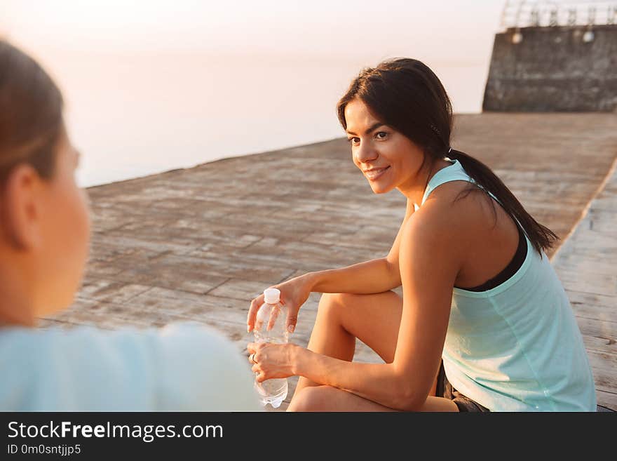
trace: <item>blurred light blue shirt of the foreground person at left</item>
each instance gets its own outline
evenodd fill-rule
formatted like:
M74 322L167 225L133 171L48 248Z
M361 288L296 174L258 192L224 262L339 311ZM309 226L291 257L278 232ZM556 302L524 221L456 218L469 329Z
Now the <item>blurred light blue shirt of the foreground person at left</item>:
M211 328L0 328L0 410L261 410L252 373Z

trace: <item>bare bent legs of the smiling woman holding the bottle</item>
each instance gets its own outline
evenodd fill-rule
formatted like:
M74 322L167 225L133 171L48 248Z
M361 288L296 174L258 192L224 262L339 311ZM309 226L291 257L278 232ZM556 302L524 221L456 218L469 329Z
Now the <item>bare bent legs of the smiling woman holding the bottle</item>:
M324 293L319 302L317 319L313 326L311 339L308 341L308 349L336 359L352 361L355 352L355 338L358 338L386 363L391 363L394 360L401 314L402 298L393 291L374 295ZM435 395L436 385L435 377L430 395ZM299 392L311 386L320 385L307 378L299 378L290 403L291 409L294 409L294 400ZM345 394L349 393L345 392ZM362 399L354 394L350 395ZM370 402L366 399L362 400ZM370 403L379 405L374 402Z

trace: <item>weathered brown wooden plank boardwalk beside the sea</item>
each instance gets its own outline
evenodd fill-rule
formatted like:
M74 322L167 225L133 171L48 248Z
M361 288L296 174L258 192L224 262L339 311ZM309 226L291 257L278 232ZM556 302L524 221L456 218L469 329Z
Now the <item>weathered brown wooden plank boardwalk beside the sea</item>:
M616 159L616 126L616 114L461 115L453 146L489 164L536 220L567 236ZM577 229L557 266L599 402L611 408L616 190L614 179L606 183L583 220L589 232ZM200 321L244 354L253 297L297 274L382 257L405 212L398 192L372 194L341 139L92 187L89 194L93 239L83 287L70 309L41 327ZM299 345L308 343L318 300L313 293L301 309L293 335ZM358 344L355 360L379 358ZM290 395L296 382L290 378Z

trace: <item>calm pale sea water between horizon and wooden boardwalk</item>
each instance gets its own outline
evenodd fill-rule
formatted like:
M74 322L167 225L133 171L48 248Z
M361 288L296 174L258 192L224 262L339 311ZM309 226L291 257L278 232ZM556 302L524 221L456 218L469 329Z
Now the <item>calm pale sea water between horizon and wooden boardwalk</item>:
M83 186L342 136L336 102L363 66L379 61L83 51L38 58L65 93ZM480 112L488 63L425 62L455 112Z

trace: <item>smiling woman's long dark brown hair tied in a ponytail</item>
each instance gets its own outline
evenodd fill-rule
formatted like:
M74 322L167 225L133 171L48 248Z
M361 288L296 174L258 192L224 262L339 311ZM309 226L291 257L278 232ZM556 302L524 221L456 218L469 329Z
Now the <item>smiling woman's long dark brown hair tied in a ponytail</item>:
M548 250L557 240L548 227L531 218L488 166L450 149L452 104L438 77L423 62L402 58L362 70L337 104L339 121L345 129L345 107L354 98L362 100L377 118L421 147L430 167L446 156L458 160L477 185L496 196L506 213L520 222L538 253ZM494 201L491 203L494 206Z

